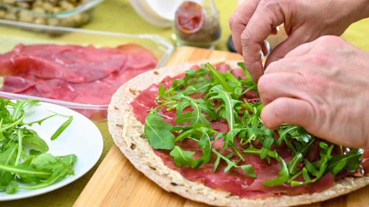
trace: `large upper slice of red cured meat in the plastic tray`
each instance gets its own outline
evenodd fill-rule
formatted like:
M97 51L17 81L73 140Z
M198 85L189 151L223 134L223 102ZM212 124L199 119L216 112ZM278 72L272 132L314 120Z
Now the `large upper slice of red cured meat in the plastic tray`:
M127 55L114 48L77 45L17 45L0 56L1 73L86 83L120 71Z

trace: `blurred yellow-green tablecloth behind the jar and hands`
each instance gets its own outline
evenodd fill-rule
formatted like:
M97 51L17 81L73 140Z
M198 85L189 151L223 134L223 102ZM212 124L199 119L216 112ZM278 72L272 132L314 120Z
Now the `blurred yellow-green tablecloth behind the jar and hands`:
M166 0L160 1L164 3ZM228 50L227 41L230 35L228 18L236 9L238 1L214 0L214 3L219 10L221 27L221 36L215 49ZM155 33L172 40L171 27L160 27L147 22L135 11L130 0L106 0L97 5L94 12L91 22L82 28L124 33ZM269 40L271 45L284 38L283 29L281 31L279 37ZM369 50L369 19L354 23L342 37L359 48Z

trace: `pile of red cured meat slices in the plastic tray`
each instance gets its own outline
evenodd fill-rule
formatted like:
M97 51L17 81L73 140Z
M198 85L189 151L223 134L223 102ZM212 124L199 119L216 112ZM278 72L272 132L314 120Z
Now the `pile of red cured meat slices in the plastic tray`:
M156 67L155 55L139 45L116 48L18 44L0 55L0 91L60 101L109 104L113 93L136 75ZM106 110L81 110L89 118Z

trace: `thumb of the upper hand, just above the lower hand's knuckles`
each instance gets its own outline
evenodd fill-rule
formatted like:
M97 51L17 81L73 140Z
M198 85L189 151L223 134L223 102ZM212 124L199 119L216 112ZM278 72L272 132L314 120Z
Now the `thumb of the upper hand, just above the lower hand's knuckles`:
M295 49L300 44L304 43L303 36L297 34L296 32L292 33L286 40L277 45L272 52L269 54L268 58L265 62L265 68L274 61L277 61L281 58L284 58L287 53L291 50Z

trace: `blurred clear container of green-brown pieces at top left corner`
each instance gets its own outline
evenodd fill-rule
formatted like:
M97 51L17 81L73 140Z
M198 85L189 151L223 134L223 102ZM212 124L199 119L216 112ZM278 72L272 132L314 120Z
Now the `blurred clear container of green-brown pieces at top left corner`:
M79 27L90 21L103 0L0 0L0 19L52 26ZM77 6L74 7L74 4Z

